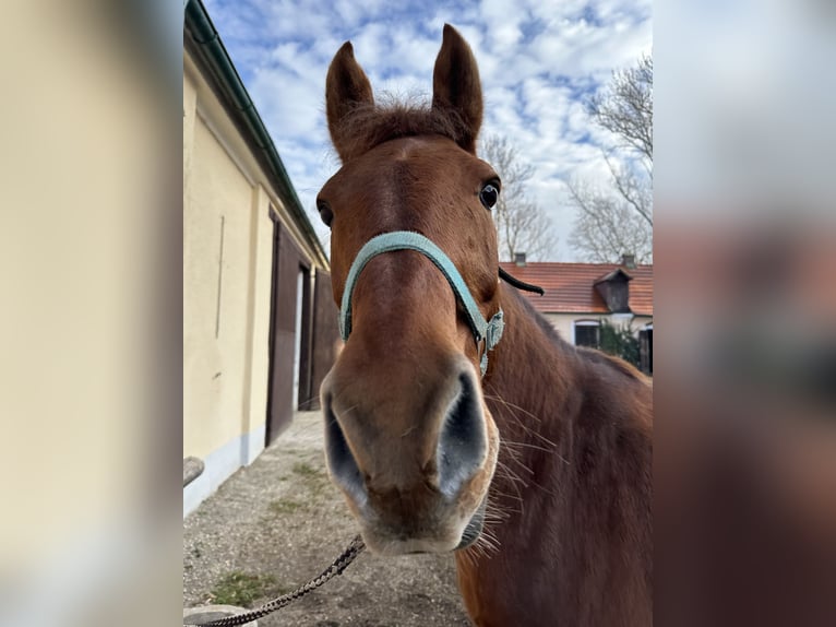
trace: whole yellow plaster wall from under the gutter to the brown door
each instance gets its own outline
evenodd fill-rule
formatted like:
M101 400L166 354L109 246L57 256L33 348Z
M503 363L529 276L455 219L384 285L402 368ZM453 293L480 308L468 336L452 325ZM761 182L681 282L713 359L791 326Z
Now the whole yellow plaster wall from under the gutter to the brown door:
M220 454L223 464L234 463L230 456L249 463L264 446L274 229L271 208L315 269L310 245L187 52L183 457L206 460L214 453L210 459ZM210 471L207 466L206 474Z

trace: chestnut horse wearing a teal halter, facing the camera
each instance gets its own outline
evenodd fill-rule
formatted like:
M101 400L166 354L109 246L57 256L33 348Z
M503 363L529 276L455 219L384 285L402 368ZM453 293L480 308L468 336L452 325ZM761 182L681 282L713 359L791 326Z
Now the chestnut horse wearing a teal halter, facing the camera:
M317 202L346 344L325 448L365 542L455 551L475 625L650 625L650 386L499 281L467 43L444 26L426 107L375 105L346 43L326 109L342 168Z

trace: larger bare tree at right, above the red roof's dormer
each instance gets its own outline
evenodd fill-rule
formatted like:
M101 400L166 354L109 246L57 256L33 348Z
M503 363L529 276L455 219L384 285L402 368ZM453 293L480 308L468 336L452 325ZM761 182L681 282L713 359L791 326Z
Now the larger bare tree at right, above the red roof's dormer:
M590 119L610 131L602 149L611 189L573 179L577 208L570 244L589 261L617 261L623 253L653 260L653 59L642 57L612 73L607 87L586 105Z

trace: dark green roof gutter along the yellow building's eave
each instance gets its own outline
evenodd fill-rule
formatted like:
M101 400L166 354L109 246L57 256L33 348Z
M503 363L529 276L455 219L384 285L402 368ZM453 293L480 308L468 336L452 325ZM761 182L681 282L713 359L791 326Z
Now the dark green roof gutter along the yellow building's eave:
M184 31L189 32L192 40L200 46L203 60L208 64L211 72L218 81L222 94L227 103L238 114L239 122L247 130L250 139L261 151L264 163L267 166L268 174L273 175L279 193L288 199L290 212L297 217L302 230L308 236L314 253L319 258L323 268L329 269L330 263L325 250L322 248L317 232L313 229L308 214L302 209L302 203L296 194L296 189L287 176L282 159L278 156L276 146L264 127L264 122L255 109L247 88L243 86L241 76L232 64L232 60L226 51L220 35L215 29L212 20L203 7L201 0L184 0L186 2L186 22Z

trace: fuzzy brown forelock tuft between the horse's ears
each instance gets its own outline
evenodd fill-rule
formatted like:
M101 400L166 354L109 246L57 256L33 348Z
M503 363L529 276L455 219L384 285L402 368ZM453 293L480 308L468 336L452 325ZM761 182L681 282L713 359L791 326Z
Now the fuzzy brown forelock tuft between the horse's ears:
M339 121L346 154L360 155L391 140L415 135L443 135L461 143L470 137L465 122L453 109L426 103L404 103L385 97L382 104L357 105Z

